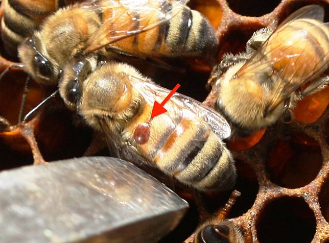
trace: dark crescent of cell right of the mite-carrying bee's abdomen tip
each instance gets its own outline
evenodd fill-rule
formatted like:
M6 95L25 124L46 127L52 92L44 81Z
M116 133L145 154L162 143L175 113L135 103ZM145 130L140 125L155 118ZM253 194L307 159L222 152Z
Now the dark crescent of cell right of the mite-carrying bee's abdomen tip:
M236 167L238 179L234 189L240 191L241 196L232 207L229 218L238 217L247 212L252 207L259 190L257 176L253 169L241 160L236 160Z

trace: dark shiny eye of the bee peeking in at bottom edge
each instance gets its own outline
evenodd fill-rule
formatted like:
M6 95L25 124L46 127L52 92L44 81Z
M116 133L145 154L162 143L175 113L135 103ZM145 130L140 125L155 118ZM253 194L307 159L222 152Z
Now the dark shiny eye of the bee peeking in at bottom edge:
M230 243L229 228L224 224L204 226L196 235L195 243Z

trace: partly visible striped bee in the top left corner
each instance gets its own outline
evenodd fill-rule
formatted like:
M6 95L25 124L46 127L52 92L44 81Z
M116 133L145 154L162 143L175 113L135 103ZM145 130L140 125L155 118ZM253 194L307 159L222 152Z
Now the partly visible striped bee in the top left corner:
M5 51L17 56L17 46L31 36L43 19L72 1L56 0L4 0L4 17L1 20L1 38Z

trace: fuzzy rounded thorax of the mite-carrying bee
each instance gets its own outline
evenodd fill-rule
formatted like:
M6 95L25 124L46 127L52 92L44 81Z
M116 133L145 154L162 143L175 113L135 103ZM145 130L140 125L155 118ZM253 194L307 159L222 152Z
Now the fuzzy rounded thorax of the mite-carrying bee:
M130 75L142 77L135 68L113 62L84 82L78 110L90 126L101 129L99 120L103 119L109 129L122 129L137 113L142 98L129 82Z

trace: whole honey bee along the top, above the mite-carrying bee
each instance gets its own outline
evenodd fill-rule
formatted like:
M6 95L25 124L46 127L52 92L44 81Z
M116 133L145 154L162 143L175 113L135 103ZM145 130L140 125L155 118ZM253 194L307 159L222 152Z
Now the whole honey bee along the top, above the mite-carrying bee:
M203 57L217 48L208 20L186 0L89 0L58 10L18 48L28 74L56 85L65 64L79 57L125 54ZM95 62L89 63L93 69Z

